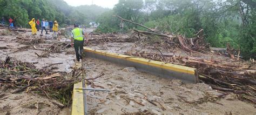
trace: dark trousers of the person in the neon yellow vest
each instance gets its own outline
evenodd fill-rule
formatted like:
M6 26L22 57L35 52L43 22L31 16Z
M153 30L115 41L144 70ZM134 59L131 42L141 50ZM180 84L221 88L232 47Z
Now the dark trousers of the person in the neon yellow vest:
M76 51L77 61L79 62L82 59L82 53L84 51L84 40L74 40L74 47Z

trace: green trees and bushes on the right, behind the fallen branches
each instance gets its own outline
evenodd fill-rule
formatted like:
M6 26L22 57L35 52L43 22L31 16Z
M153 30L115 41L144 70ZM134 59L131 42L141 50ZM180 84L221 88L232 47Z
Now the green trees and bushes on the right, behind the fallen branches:
M241 49L244 57L256 57L255 0L119 0L112 11L97 18L98 32L117 32L120 20L112 15L160 31L194 37L204 29L213 47L225 48L230 43ZM124 23L124 30L136 25ZM142 29L142 28L139 28Z

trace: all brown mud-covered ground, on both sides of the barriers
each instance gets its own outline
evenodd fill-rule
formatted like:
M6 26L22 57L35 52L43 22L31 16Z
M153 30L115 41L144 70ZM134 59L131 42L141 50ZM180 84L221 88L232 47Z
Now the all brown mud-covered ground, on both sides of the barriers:
M90 32L91 30L86 30ZM5 32L5 30L0 30ZM46 39L45 43L25 45L17 42L17 36L28 39L39 37L30 35L30 32L19 33L19 35L0 35L0 59L4 60L8 55L23 62L34 63L37 69L54 63L63 63L50 66L48 69L60 72L70 72L75 63L73 48L66 48L60 53L50 53L49 57L39 58L35 52L41 54L49 45L58 40ZM42 39L51 35L44 35ZM69 40L60 37L60 42ZM35 46L35 47L34 47ZM116 53L124 53L127 50L138 49L152 51L151 48L134 46L134 43L104 43L92 44L89 48L106 50ZM36 48L36 49L35 49ZM161 50L164 53L173 51ZM190 54L176 51L180 55ZM202 54L198 54L200 56ZM208 57L206 57L208 58ZM217 58L217 57L213 57ZM87 105L89 113L100 114L125 114L125 113L184 113L184 114L255 114L256 109L250 103L241 102L235 96L230 95L224 99L214 100L218 93L210 86L203 83L186 84L180 80L163 79L149 73L139 72L132 67L112 64L103 60L84 58L83 64L88 78L105 75L91 82L96 88L110 89L111 92L87 92ZM91 68L92 67L92 68ZM8 86L0 85L0 89ZM89 85L90 86L90 85ZM0 114L70 114L70 107L63 110L59 108L56 100L38 95L35 92L22 92L12 94L14 89L8 89L0 95ZM150 103L147 99L152 103Z

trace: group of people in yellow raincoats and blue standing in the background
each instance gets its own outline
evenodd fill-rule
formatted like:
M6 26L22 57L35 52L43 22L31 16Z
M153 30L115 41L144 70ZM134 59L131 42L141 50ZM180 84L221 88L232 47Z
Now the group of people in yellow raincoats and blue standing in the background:
M39 19L33 18L30 22L29 25L31 26L32 29L32 35L36 35L36 32L39 31L39 25L40 25L40 21ZM43 35L43 30L45 30L46 34L48 33L48 29L50 30L50 32L53 32L53 38L57 38L58 35L58 22L57 21L50 21L48 22L47 20L45 21L45 19L42 19L41 21L41 35Z

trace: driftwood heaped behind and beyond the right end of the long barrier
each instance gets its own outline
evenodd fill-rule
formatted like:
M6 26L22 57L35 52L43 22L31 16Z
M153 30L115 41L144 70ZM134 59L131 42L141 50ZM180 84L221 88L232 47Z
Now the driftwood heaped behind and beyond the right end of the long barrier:
M167 63L174 63L194 67L197 69L201 82L207 83L213 89L239 94L240 100L256 104L256 68L250 63L236 62L225 63L220 60L206 60L193 57L175 56L175 54L165 55L164 53L127 51L126 55L134 57L144 57L152 60L159 60ZM163 60L164 59L164 60Z

